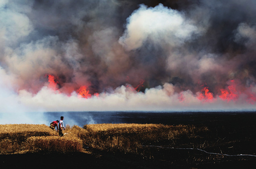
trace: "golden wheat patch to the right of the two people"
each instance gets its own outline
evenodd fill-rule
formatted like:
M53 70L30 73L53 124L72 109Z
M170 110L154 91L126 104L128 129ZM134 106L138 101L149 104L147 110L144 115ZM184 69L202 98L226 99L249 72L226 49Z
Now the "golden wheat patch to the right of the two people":
M175 144L177 139L196 138L205 127L161 124L97 124L85 125L81 138L85 145L99 150L140 153L143 145Z

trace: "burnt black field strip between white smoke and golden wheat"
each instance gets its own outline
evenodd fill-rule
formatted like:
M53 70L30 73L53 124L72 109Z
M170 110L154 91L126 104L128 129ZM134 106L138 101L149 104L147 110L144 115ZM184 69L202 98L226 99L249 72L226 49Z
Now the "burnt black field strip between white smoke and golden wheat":
M65 118L65 124L83 126L101 123L163 125L244 126L256 124L256 112L47 112L51 122Z

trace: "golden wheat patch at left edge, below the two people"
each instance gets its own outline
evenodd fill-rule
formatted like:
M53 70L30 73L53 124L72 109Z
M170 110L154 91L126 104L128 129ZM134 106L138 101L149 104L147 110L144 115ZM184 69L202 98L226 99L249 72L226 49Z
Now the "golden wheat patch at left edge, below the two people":
M59 137L47 125L0 125L0 154L82 151L81 139Z

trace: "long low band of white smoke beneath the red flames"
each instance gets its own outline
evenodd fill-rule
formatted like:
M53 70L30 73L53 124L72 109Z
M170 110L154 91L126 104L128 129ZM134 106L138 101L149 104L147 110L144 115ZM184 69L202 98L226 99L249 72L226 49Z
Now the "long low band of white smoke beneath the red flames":
M79 98L75 92L67 96L47 87L36 95L22 90L19 97L33 111L221 111L254 108L254 105L246 102L236 104L234 101L223 102L220 98L204 102L189 90L175 93L173 85L169 83L146 89L145 93L121 86L112 93L102 93L88 99Z

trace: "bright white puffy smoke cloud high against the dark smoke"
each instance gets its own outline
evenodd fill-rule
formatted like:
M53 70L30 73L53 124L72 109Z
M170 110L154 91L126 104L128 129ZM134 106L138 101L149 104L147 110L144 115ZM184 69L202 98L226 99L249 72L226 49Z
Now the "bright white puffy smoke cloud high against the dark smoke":
M120 43L127 50L135 50L149 40L155 44L179 46L198 30L185 15L162 4L153 7L141 5L127 19Z

